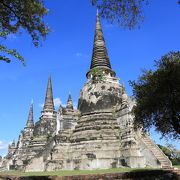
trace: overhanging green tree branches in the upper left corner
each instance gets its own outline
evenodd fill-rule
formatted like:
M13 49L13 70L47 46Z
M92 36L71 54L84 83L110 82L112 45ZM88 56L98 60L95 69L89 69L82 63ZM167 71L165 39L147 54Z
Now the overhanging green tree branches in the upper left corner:
M24 58L16 49L9 49L2 42L10 34L16 34L24 29L31 36L34 46L38 47L40 40L44 39L49 31L43 22L47 12L43 0L0 1L0 60L9 63L14 57L24 64Z

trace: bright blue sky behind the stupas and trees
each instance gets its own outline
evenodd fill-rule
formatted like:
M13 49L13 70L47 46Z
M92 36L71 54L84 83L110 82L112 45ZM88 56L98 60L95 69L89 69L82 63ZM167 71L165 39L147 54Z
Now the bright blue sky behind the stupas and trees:
M44 102L48 75L52 76L56 105L65 104L69 91L77 105L80 89L89 69L96 9L90 0L46 1L49 14L45 21L51 32L40 48L35 48L26 34L10 36L4 42L16 48L26 59L26 67L14 60L0 62L0 155L7 144L17 140L23 129L31 100L35 121ZM180 50L180 5L177 0L149 0L144 8L145 20L140 29L128 30L101 20L112 68L132 95L129 80L135 80L141 69L153 67L154 60L169 51ZM160 135L152 138L161 144ZM169 141L180 148L178 142Z

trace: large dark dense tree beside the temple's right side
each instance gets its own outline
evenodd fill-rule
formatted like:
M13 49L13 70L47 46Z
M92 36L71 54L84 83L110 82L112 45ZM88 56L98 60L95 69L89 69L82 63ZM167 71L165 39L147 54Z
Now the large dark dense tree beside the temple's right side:
M130 81L136 98L135 127L154 126L162 136L180 138L180 52L170 52Z

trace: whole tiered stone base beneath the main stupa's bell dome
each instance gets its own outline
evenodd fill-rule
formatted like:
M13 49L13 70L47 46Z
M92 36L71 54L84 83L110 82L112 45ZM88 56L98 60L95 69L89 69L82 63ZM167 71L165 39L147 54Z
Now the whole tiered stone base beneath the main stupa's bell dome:
M69 139L71 143L55 146L46 170L121 167L118 129L112 113L82 116Z

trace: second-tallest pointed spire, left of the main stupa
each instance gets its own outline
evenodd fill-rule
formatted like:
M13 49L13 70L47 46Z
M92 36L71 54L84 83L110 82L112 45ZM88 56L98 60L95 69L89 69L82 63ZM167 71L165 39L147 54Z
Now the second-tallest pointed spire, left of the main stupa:
M49 76L43 111L54 111L54 110L55 109L53 102L52 82L51 82L51 76Z

